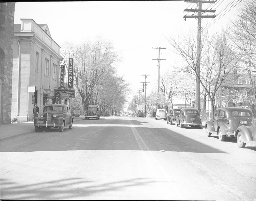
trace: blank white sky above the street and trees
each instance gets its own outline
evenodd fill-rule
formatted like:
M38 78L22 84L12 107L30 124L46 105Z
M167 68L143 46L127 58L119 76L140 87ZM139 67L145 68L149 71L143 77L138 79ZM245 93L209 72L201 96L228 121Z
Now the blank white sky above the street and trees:
M246 1L246 0L244 0ZM202 26L213 23L208 33L220 31L230 20L234 20L242 0L217 0L215 4L203 4L202 9L215 9L217 17L203 18ZM160 74L179 65L180 58L173 54L165 39L197 32L196 18L183 16L186 8L196 8L195 3L184 1L108 1L108 2L19 2L15 4L14 23L21 18L32 18L37 24L47 24L52 39L60 45L65 41L81 42L101 35L114 43L122 58L116 65L119 75L131 84L136 94L147 77L147 94L157 90L158 49L160 50ZM189 12L188 15L194 13ZM130 97L132 97L132 94Z

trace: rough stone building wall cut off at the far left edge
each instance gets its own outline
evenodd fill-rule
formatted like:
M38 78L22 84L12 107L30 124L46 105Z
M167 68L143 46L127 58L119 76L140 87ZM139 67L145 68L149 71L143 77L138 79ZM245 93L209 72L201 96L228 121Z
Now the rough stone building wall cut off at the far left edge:
M0 3L0 124L11 123L15 3Z

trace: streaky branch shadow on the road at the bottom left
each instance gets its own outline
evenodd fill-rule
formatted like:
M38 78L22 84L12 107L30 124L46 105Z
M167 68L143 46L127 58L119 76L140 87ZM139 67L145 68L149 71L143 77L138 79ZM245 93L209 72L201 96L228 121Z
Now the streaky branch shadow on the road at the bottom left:
M137 178L96 185L96 182L86 181L83 178L69 178L23 185L7 179L1 179L1 199L86 199L87 196L104 191L121 190L129 186L143 186L155 182L151 178Z

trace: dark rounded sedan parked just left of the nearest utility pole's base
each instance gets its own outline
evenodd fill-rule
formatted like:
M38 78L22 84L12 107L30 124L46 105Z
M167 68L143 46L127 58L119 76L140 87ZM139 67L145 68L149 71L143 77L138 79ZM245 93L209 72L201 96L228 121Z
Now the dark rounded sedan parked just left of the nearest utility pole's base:
M195 108L182 108L180 114L175 118L175 125L182 128L183 126L191 126L201 128L202 121L199 112Z

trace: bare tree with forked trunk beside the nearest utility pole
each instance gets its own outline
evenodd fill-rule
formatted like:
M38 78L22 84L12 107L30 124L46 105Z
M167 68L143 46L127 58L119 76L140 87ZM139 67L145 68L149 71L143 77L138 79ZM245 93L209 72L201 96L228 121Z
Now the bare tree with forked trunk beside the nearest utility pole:
M195 37L194 37L195 38ZM187 72L200 80L205 92L208 94L212 106L212 119L214 119L214 97L228 73L236 67L237 56L231 48L229 30L215 33L210 39L203 37L201 49L201 76L198 74L196 64L196 47L193 37L184 39L182 43L170 38L175 53L185 61L185 65L177 67L178 72Z

